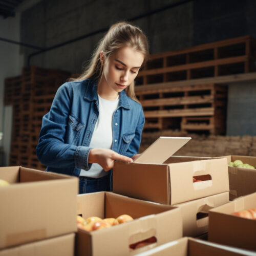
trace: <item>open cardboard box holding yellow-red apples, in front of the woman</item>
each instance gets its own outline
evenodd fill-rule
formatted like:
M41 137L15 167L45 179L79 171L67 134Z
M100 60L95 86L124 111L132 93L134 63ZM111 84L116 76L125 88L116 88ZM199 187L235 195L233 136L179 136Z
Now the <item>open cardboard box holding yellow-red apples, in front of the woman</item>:
M181 210L111 192L77 196L77 214L83 218L117 218L128 214L135 220L95 231L78 230L76 255L134 255L182 237ZM130 252L129 245L156 237L157 242Z

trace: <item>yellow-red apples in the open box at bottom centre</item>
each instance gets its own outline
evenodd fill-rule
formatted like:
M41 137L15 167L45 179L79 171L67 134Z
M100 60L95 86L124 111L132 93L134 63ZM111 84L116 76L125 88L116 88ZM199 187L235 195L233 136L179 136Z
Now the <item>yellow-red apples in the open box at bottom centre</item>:
M86 231L94 231L98 229L108 228L111 226L115 226L127 221L132 221L133 218L130 215L123 214L119 217L115 218L105 218L101 219L99 217L89 217L87 219L83 219L81 216L77 215L77 227Z

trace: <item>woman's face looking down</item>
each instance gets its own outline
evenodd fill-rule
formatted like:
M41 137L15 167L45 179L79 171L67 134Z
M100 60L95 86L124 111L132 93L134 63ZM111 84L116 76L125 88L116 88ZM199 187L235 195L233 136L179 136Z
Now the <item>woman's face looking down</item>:
M143 63L144 55L131 47L117 50L107 59L103 57L103 84L117 93L130 86Z

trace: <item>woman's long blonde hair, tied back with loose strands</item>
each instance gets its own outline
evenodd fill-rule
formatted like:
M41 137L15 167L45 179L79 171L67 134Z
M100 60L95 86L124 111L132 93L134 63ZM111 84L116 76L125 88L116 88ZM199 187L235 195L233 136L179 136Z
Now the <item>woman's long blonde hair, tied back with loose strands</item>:
M70 81L81 81L86 78L98 80L103 73L103 66L100 62L100 53L103 51L107 59L118 49L129 46L144 55L143 63L148 59L148 42L142 30L126 22L112 25L109 31L99 41L97 48L93 52L87 68L77 78L70 78ZM135 96L134 81L125 89L126 95L139 102Z

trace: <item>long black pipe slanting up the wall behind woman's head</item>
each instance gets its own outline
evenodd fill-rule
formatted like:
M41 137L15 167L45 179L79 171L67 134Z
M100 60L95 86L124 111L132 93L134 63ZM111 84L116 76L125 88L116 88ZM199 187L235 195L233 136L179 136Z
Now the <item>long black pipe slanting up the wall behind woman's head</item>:
M167 6L165 6L165 7L158 8L158 9L156 9L156 10L154 10L154 11L147 12L147 13L144 13L144 14L142 14L142 15L135 16L135 17L133 17L133 18L131 18L131 19L128 19L127 21L133 22L134 20L137 20L137 19L140 19L140 18L143 18L143 17L146 17L146 16L150 16L150 15L153 15L153 14L155 14L155 13L162 12L162 11L165 11L165 10L167 10L167 9L174 8L174 7L177 7L177 6L180 6L180 5L189 3L189 2L193 2L193 1L194 1L194 0L184 0L184 1L181 1L181 2L176 3L176 4L170 4L170 5L167 5ZM91 32L91 33L88 33L88 34L85 34L85 35L76 37L76 38L74 38L74 39L71 39L71 40L62 42L61 44L58 44L58 45L55 45L55 46L51 46L51 47L48 47L48 48L45 48L45 49L41 49L41 50L38 51L38 52L31 53L31 54L28 56L27 65L30 66L31 57L33 57L33 56L35 56L35 55L38 55L38 54L41 54L41 53L44 53L44 52L47 52L47 51L50 51L50 50L53 50L53 49L56 49L56 48L59 48L59 47L68 45L68 44L71 44L71 43L74 42L74 41L78 41L78 40L87 38L87 37L89 37L89 36L93 36L93 35L96 35L96 34L99 34L99 33L104 33L104 32L106 32L106 31L108 31L108 30L109 30L109 27L106 27L106 28L103 28L103 29L100 29L100 30L96 30L96 31L94 31L94 32Z

